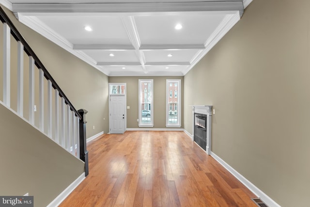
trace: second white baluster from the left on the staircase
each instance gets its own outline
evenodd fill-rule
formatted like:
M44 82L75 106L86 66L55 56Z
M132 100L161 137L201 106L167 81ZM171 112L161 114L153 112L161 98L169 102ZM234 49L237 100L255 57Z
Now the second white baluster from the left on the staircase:
M24 46L17 42L17 113L24 116Z

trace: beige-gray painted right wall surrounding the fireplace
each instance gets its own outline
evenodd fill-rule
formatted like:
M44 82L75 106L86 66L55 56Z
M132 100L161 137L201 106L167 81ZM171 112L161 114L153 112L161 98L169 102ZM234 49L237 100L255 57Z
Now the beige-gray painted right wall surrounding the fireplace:
M309 206L309 22L309 0L253 0L184 78L185 129L213 105L212 151L282 207Z

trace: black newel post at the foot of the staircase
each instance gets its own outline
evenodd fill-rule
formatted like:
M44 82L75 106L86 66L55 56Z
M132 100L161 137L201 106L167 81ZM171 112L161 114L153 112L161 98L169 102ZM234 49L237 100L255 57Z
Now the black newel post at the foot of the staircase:
M86 149L86 111L85 109L78 110L82 119L79 120L79 159L85 162L85 176L88 175L88 151Z

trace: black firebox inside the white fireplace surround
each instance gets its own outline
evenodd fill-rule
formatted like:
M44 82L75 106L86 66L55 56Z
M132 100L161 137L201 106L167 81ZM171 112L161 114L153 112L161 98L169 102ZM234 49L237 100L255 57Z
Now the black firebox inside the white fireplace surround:
M207 146L207 115L195 113L194 141L206 150Z

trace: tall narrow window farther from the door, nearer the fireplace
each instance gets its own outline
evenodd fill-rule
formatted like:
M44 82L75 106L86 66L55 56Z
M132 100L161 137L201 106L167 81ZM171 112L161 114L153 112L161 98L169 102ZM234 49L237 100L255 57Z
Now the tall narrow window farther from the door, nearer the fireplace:
M174 96L172 92L174 91ZM166 127L181 127L181 80L166 81Z

